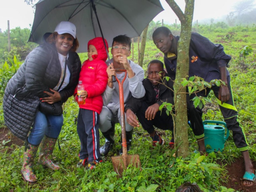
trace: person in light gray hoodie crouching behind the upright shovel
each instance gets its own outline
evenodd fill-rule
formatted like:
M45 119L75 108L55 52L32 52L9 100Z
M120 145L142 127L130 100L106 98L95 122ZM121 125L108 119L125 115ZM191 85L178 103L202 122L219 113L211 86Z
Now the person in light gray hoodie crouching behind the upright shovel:
M127 57L130 56L131 40L126 35L119 35L113 39L111 54L113 58L111 64L107 68L108 85L103 94L104 106L100 113L100 131L106 138L105 144L100 148L101 154L108 154L114 144L115 124L121 122L120 115L120 99L118 82L113 82L112 76L122 81L124 72L116 72L115 69L126 69L127 76L124 81L124 104L133 96L134 98L142 98L145 89L142 85L144 79L144 71L142 67L135 64ZM130 150L132 142L133 126L127 123L125 117L127 150ZM120 150L122 154L122 148Z

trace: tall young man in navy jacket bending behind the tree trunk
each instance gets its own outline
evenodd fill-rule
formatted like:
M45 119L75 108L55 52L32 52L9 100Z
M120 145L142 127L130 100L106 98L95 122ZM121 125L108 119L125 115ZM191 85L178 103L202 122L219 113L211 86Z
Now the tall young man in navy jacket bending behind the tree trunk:
M175 80L176 64L177 64L177 44L179 36L173 36L171 31L166 27L157 28L152 34L152 38L156 47L164 53L164 64L168 72L168 76ZM226 67L231 57L225 54L223 46L214 44L207 38L197 33L191 34L189 48L189 77L200 76L205 81L210 82L213 79L221 79L225 82L222 86L212 86L211 89L206 88L197 93L197 96L207 97L210 90L218 100L220 110L227 124L227 128L233 132L233 140L236 147L242 152L245 163L245 174L242 180L243 186L252 186L255 181L255 171L250 160L248 152L248 143L244 135L242 124L238 120L238 111L234 106L232 90L230 86L230 75ZM192 130L198 140L199 151L205 152L204 145L204 126L202 124L202 110L193 105L194 94L190 95L188 105L188 118L190 119Z

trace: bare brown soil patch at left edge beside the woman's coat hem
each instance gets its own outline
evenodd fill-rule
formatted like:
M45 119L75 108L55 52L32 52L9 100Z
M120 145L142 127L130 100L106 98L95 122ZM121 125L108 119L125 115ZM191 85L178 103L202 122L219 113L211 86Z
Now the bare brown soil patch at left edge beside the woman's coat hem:
M0 129L0 152L5 150L4 148L6 148L6 146L9 147L8 153L12 152L13 149L10 147L12 146L12 144L15 144L17 146L23 146L24 141L14 136L7 127L1 128Z

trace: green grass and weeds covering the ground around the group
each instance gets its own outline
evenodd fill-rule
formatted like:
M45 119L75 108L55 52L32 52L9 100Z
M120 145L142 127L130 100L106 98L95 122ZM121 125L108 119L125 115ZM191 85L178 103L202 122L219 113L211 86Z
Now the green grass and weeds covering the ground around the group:
M234 102L240 114L240 121L244 125L244 131L250 144L250 156L256 161L256 58L255 58L255 32L254 28L242 31L239 27L235 28L232 39L226 39L229 29L218 32L203 33L202 35L210 38L213 42L223 42L227 54L232 55L229 71L231 72ZM200 31L199 31L200 32ZM244 37L245 35L250 35ZM242 39L243 41L239 41ZM253 53L246 58L240 58L239 52L245 46L250 45ZM138 53L137 43L134 43L134 62L137 62ZM160 51L154 46L152 41L147 41L144 56L143 68L146 69L147 63L155 59ZM82 62L86 59L86 53L79 54ZM130 56L131 58L132 56ZM163 61L162 57L158 59ZM204 109L203 120L223 121L222 114L218 110L218 105L213 94L209 98L212 104L207 104ZM1 105L0 122L3 122ZM221 186L225 182L227 172L225 164L231 164L238 157L240 152L234 146L232 133L225 144L222 153L210 154L207 157L193 153L197 149L196 140L192 130L188 128L190 156L182 159L174 155L174 150L170 150L167 145L152 148L151 138L142 129L134 129L134 139L130 154L139 154L141 169L130 166L124 171L122 178L117 178L114 172L111 158L118 155L120 149L120 125L116 125L116 145L110 151L110 155L104 157L104 163L100 164L95 170L87 171L76 168L79 161L78 153L80 142L76 132L76 121L78 106L72 98L64 106L64 125L59 136L61 151L56 145L53 160L60 164L61 169L52 171L44 169L42 165L35 163L34 170L38 177L38 183L34 185L26 184L20 175L24 147L12 145L10 147L0 144L0 190L1 191L80 191L80 192L119 192L119 191L175 191L184 182L196 182L204 192L234 191ZM1 123L3 126L3 123ZM170 140L171 133L159 130L162 137ZM100 145L104 144L101 136ZM11 148L8 150L8 148ZM37 162L38 157L35 162ZM218 163L217 163L218 162ZM220 166L222 162L223 166ZM242 165L241 165L242 166Z

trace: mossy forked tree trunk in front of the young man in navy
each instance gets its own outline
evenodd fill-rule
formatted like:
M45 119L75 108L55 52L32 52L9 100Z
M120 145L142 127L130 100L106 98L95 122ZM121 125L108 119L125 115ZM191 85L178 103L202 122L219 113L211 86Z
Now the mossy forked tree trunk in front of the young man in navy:
M182 78L186 78L189 70L188 51L190 45L192 20L194 13L194 0L185 0L185 12L183 13L180 7L174 0L166 0L172 10L178 16L181 22L180 40L178 41L178 58L176 68L176 78L174 82L174 133L177 155L187 157L188 151L188 118L187 118L187 103L186 103L186 87L181 85ZM182 92L182 93L181 93Z

